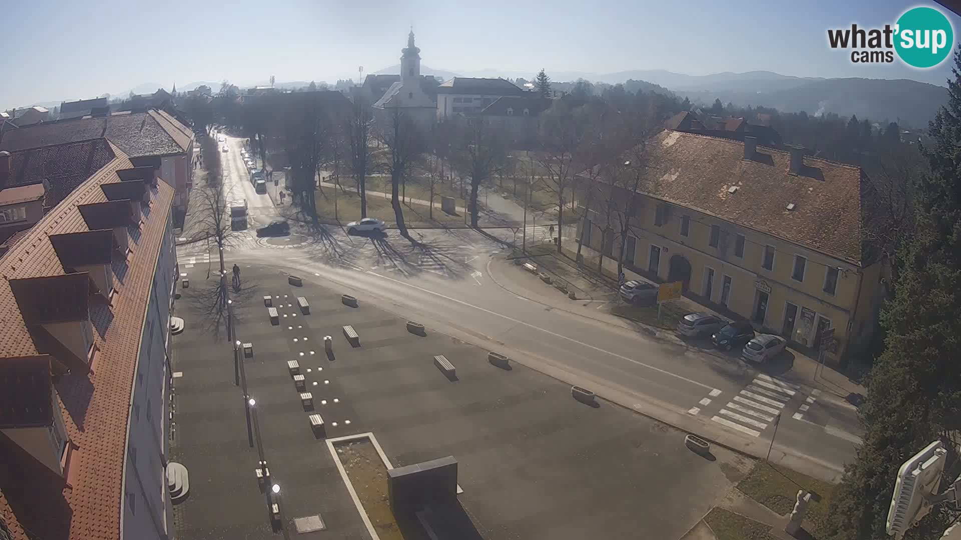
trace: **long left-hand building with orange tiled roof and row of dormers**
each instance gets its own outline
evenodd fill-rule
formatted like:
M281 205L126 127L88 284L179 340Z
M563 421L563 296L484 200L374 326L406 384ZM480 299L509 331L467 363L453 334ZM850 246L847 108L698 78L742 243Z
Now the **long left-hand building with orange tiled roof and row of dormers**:
M0 257L4 538L173 535L174 188L107 146L111 159Z

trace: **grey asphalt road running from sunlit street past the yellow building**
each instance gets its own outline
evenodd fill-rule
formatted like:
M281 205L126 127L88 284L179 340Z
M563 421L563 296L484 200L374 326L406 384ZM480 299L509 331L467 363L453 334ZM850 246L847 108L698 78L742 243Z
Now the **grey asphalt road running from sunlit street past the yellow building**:
M282 213L247 181L239 140L228 139L224 185L248 199L253 233ZM496 240L514 238L510 229L412 233L421 246L411 245L396 231L372 238L349 236L336 227L311 233L294 223L286 237L249 235L229 249L226 258L241 265L283 266L341 283L409 318L432 323L433 328L529 357L559 378L573 377L616 390L638 404L696 417L749 441L755 450L767 449L779 414L775 449L834 471L853 457L854 433L860 431L853 407L843 401L741 361L655 339L613 317L584 318L505 290L490 279L490 268L505 249ZM540 227L533 233L544 234ZM182 246L179 260L202 262L205 249L198 244Z

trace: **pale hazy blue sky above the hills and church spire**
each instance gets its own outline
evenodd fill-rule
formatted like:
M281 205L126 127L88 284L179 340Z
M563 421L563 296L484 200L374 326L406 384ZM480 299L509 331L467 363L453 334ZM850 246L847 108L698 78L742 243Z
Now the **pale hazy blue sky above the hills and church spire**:
M945 86L951 61L919 70L857 65L828 28L880 27L933 2L896 0L6 0L0 108L125 94L144 83L238 86L353 77L398 63L413 27L425 65L689 75L768 70L802 77L913 79ZM947 10L942 9L943 12ZM955 34L961 18L949 14ZM956 36L957 37L957 36ZM955 39L956 40L956 39ZM216 90L217 88L214 88Z

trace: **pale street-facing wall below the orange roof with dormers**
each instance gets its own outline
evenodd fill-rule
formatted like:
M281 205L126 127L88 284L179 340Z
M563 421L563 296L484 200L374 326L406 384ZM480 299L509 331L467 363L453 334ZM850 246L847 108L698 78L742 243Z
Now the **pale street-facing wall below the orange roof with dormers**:
M173 534L173 523L168 519L171 503L164 471L168 450L166 348L175 265L168 221L149 291L131 401L122 530L122 537L129 540L169 538Z

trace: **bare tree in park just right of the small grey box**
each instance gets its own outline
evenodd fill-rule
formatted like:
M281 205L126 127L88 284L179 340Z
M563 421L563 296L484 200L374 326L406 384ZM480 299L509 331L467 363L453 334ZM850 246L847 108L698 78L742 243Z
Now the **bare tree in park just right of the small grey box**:
M505 136L482 116L461 117L456 120L452 160L455 168L471 183L468 211L471 227L478 227L478 190L480 184L494 177L504 165Z

